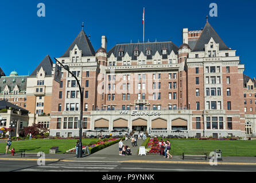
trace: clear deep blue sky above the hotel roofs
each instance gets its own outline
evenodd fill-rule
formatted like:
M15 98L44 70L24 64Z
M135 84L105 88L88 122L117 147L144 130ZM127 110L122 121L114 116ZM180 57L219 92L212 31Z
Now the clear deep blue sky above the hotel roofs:
M37 17L37 4L44 3L46 16ZM0 67L6 75L15 70L28 75L49 54L60 57L85 22L95 51L106 35L110 50L117 42L141 42L145 7L145 41L173 41L181 45L182 29L199 30L218 5L218 17L208 21L228 47L236 51L245 74L256 77L254 49L256 1L83 1L24 0L0 2ZM53 59L54 60L54 59Z

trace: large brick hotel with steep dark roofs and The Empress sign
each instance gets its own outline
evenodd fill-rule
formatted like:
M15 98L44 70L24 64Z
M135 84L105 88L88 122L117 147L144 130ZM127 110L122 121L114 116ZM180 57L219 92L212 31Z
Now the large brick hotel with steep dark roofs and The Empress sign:
M88 129L216 138L255 133L256 108L245 111L243 94L251 87L243 87L245 67L236 51L208 22L201 30L183 29L182 38L179 47L171 41L122 43L107 52L107 38L102 36L95 52L80 31L57 59L84 87L83 135ZM62 75L61 84L52 84L50 134L78 136L79 88L66 70ZM255 83L247 80L246 86ZM250 133L245 130L247 118Z

